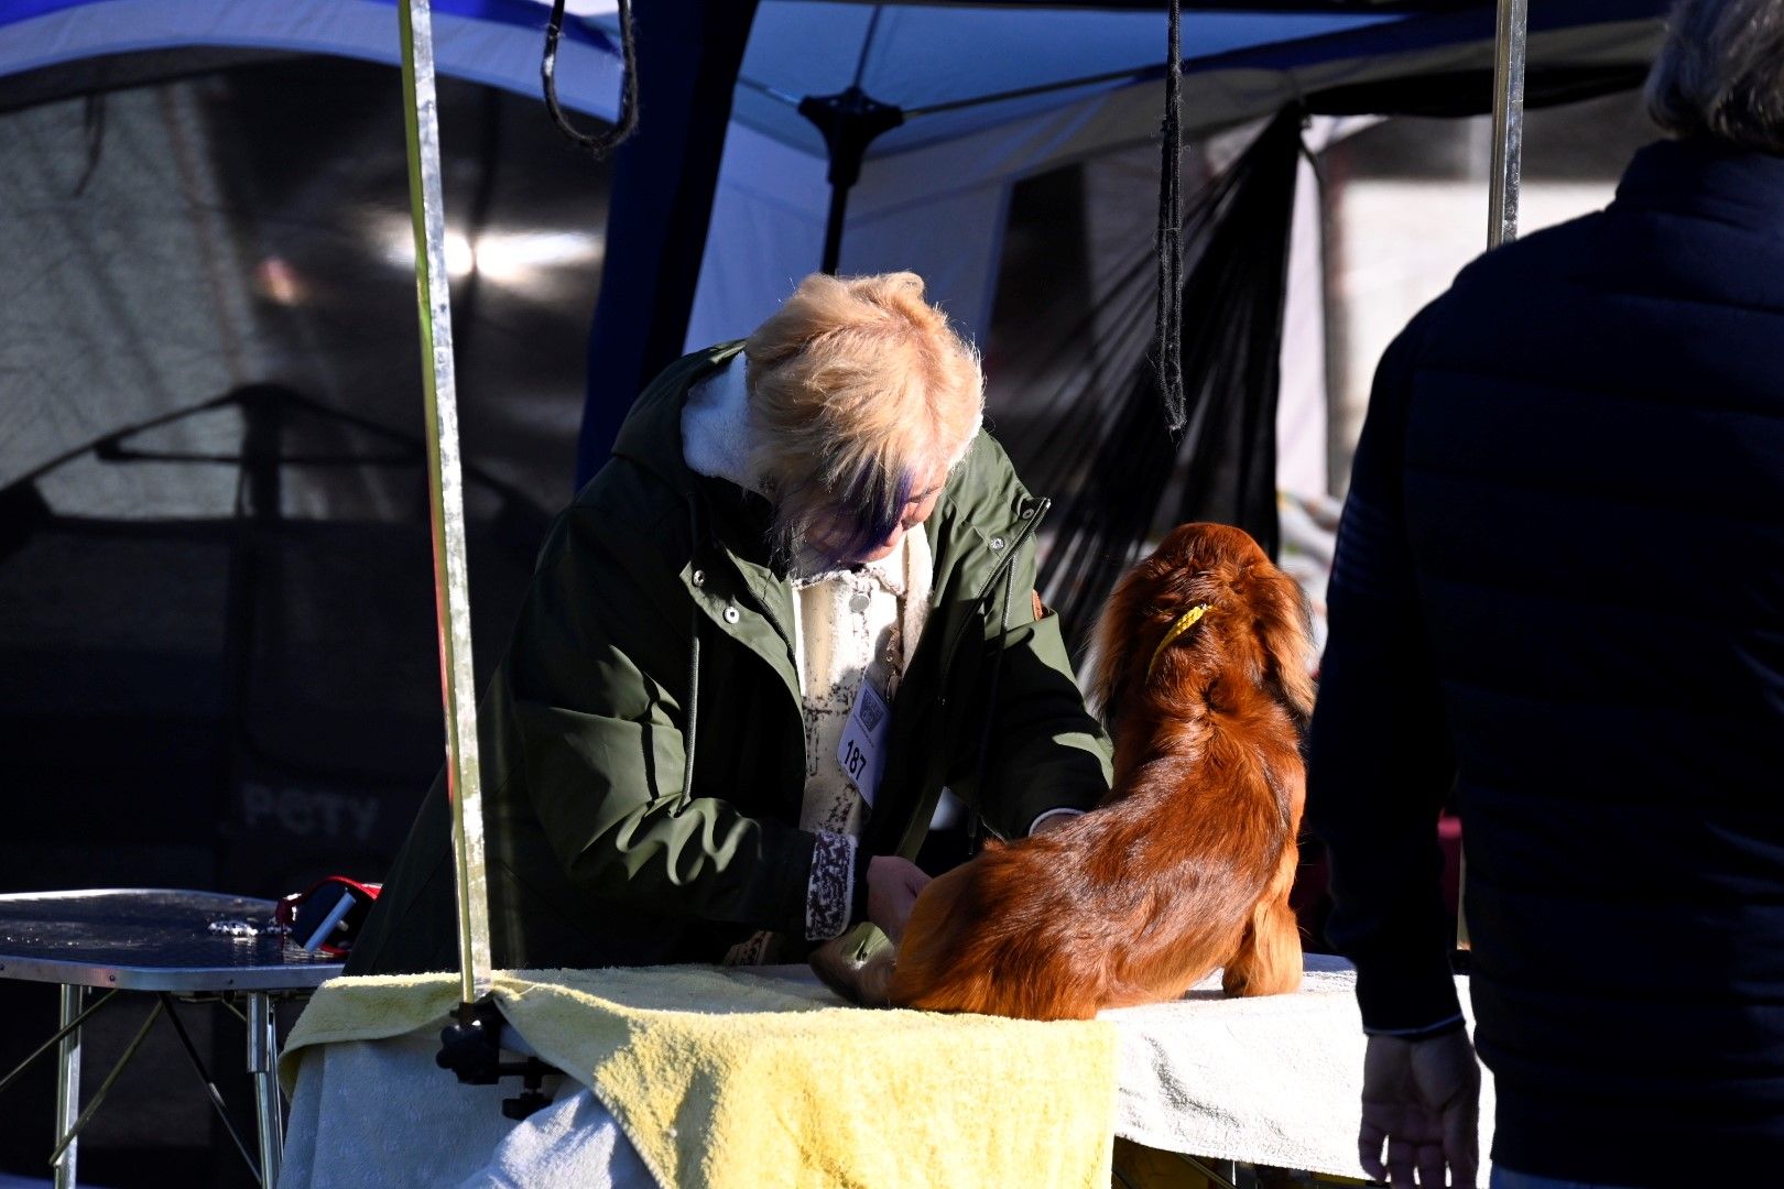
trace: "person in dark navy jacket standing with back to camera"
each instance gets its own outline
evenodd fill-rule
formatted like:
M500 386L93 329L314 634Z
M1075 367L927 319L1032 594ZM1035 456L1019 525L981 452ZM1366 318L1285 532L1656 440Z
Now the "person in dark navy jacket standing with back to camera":
M1452 795L1493 1185L1784 1168L1784 2L1688 0L1648 102L1673 139L1418 314L1358 446L1308 818L1395 1185L1475 1177Z

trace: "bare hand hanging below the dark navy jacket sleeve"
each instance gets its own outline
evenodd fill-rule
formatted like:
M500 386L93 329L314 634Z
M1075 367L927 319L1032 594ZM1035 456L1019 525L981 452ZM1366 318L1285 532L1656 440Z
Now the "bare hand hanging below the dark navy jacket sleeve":
M1363 1169L1390 1185L1474 1189L1481 1166L1481 1066L1466 1030L1422 1041L1368 1037L1358 1153Z

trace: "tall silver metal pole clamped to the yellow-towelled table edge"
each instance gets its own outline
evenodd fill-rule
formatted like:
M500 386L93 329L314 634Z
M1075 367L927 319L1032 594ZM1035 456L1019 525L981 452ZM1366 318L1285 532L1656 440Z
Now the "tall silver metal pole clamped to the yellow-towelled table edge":
M441 200L439 103L434 96L430 0L396 5L403 30L403 130L409 210L416 228L416 299L421 314L421 389L428 419L428 497L434 522L434 613L446 709L446 788L451 799L458 891L458 998L489 991L489 897L483 875L483 795L471 677L471 603L466 581L464 481L458 472L458 394L446 291L446 212Z

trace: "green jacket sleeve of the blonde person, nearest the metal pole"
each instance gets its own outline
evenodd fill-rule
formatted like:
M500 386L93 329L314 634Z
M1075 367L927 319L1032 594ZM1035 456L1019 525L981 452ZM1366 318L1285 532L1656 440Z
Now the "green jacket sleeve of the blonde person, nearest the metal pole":
M614 521L560 519L516 627L505 695L532 808L594 897L803 936L815 836L689 797L692 606Z

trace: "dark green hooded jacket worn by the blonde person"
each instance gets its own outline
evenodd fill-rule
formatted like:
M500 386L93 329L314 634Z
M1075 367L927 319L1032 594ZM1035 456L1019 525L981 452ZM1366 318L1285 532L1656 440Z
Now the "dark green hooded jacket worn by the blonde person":
M553 524L483 693L498 968L719 961L758 929L805 936L815 834L796 825L792 588L769 565L765 501L681 455L687 390L740 349L689 355L639 398ZM949 476L862 856L915 856L944 784L1003 838L1108 790L1108 738L1058 617L1029 597L1045 506L983 431ZM348 973L457 970L450 827L442 775Z

